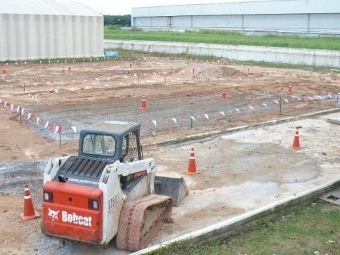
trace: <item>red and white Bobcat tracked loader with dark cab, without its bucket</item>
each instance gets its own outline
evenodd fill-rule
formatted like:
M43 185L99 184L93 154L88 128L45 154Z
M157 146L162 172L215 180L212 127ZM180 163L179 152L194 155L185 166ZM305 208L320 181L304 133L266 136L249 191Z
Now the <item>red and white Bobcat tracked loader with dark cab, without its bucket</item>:
M156 165L143 159L140 124L108 121L83 129L78 156L44 169L42 231L50 236L146 247L170 220L172 199L154 195Z

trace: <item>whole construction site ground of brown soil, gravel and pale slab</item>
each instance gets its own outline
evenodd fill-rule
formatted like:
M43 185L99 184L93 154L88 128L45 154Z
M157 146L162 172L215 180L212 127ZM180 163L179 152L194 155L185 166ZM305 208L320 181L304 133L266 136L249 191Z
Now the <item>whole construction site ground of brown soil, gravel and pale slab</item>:
M20 126L19 115L2 103L1 254L127 254L116 250L114 242L101 246L50 238L40 232L40 219L19 219L24 183L30 184L41 213L44 165L51 157L77 153L74 126L78 132L83 126L105 120L140 122L142 142L147 145L144 154L156 159L159 174L184 175L189 151L195 147L201 173L185 177L191 191L174 208L174 223L165 224L152 244L340 178L340 126L325 121L327 117L340 117L337 113L177 145L152 145L185 135L334 108L334 94L340 85L337 74L155 57L72 63L71 72L68 66L10 64L6 76L0 77L0 99L63 127L60 149L58 133L28 121L26 116ZM292 95L287 94L289 85L293 86ZM220 100L223 89L226 101ZM148 110L139 109L143 94ZM328 94L332 97L314 100L316 95ZM281 114L278 104L269 104L280 97L289 101L282 104ZM302 97L313 100L291 101ZM268 107L255 108L264 103ZM239 114L235 110L242 108L249 109ZM209 119L204 117L206 114ZM193 129L190 116L195 117ZM295 151L291 149L294 128L300 125L303 148Z

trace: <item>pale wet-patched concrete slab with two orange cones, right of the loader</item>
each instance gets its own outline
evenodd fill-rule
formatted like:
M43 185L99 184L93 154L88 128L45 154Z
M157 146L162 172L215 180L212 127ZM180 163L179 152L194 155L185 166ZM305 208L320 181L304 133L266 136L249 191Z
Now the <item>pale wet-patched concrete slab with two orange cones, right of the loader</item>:
M158 172L177 172L191 191L173 210L152 245L249 213L340 179L340 126L327 123L339 113L206 138L150 151ZM302 126L302 149L291 149ZM201 174L186 176L195 147Z

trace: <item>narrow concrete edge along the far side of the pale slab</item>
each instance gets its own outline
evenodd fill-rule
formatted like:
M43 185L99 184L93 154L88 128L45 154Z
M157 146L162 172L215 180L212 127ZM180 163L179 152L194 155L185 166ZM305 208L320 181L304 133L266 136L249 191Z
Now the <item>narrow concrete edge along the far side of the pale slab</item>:
M196 135L187 135L187 136L184 136L182 138L173 138L173 139L170 139L170 140L165 140L163 142L156 142L154 144L148 144L148 145L143 145L143 146L146 147L146 146L152 146L152 145L157 145L157 146L174 145L174 144L181 143L181 142L188 142L188 141L192 141L192 140L209 138L209 137L214 136L214 135L222 135L222 134L225 134L225 133L234 133L234 132L239 132L239 131L245 131L245 130L248 130L248 129L254 129L254 128L262 127L262 126L271 126L271 125L285 123L285 122L293 122L293 121L296 121L296 120L306 119L308 117L315 117L317 115L337 113L339 111L340 111L340 108L332 108L332 109L328 109L328 110L321 110L321 111L314 112L314 113L306 113L306 114L297 115L297 116L293 116L293 117L285 117L285 118L278 119L278 120L268 120L266 122L259 122L259 123L255 123L255 124L244 125L244 126L236 126L234 128L225 129L225 130L221 130L221 131L211 131L211 132L207 132L207 133L199 133L199 134L196 134Z

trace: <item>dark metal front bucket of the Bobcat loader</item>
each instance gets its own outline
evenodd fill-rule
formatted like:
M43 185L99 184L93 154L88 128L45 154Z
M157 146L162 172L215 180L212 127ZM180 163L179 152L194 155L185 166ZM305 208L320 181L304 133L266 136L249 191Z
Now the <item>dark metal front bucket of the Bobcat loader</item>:
M157 195L172 197L172 205L179 206L184 197L188 195L189 189L183 177L156 176L154 179L154 190Z

